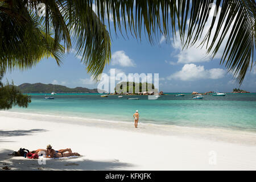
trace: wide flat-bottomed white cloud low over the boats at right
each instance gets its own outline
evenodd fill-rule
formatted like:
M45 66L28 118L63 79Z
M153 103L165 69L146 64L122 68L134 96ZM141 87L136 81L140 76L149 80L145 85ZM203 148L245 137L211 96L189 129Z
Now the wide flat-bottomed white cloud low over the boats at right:
M225 76L226 71L220 68L204 69L204 66L195 64L185 64L181 71L178 71L167 77L167 80L200 80L200 79L218 79Z

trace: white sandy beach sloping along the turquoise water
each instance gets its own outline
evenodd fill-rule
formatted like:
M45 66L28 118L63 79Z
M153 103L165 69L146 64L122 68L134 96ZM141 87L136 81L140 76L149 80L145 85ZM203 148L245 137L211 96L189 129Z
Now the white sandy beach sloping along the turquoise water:
M11 170L256 170L256 134L0 111L0 169ZM38 160L7 154L71 148L82 155ZM215 160L216 159L216 160ZM216 162L216 163L215 163Z

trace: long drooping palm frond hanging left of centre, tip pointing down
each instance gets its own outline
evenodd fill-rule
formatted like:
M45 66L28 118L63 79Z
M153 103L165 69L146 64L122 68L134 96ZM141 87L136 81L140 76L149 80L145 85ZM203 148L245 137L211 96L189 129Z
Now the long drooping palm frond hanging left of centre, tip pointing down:
M88 73L94 80L102 73L111 57L111 42L105 25L92 10L90 3L68 2L63 10L68 19L68 27L76 44L77 55L82 55Z

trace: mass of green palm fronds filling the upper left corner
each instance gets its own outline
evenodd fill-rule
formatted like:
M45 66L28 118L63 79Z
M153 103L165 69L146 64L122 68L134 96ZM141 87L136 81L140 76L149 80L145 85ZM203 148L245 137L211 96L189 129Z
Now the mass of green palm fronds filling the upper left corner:
M38 16L38 5L46 16ZM54 38L54 39L53 39ZM0 66L31 68L52 56L60 65L64 53L82 55L81 61L96 79L110 61L111 43L105 25L90 1L0 1ZM64 46L61 46L64 43Z

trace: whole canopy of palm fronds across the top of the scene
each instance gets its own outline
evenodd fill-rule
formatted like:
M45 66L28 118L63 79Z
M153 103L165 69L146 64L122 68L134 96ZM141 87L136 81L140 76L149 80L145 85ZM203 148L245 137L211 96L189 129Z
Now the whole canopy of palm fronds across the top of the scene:
M216 16L203 35L213 0L0 0L0 65L30 68L48 56L59 64L64 52L75 50L97 78L110 61L105 23L110 30L113 20L115 33L141 39L144 31L150 43L161 34L168 42L177 35L184 49L200 41L212 58L225 44L220 64L241 84L255 63L255 1L214 2Z

